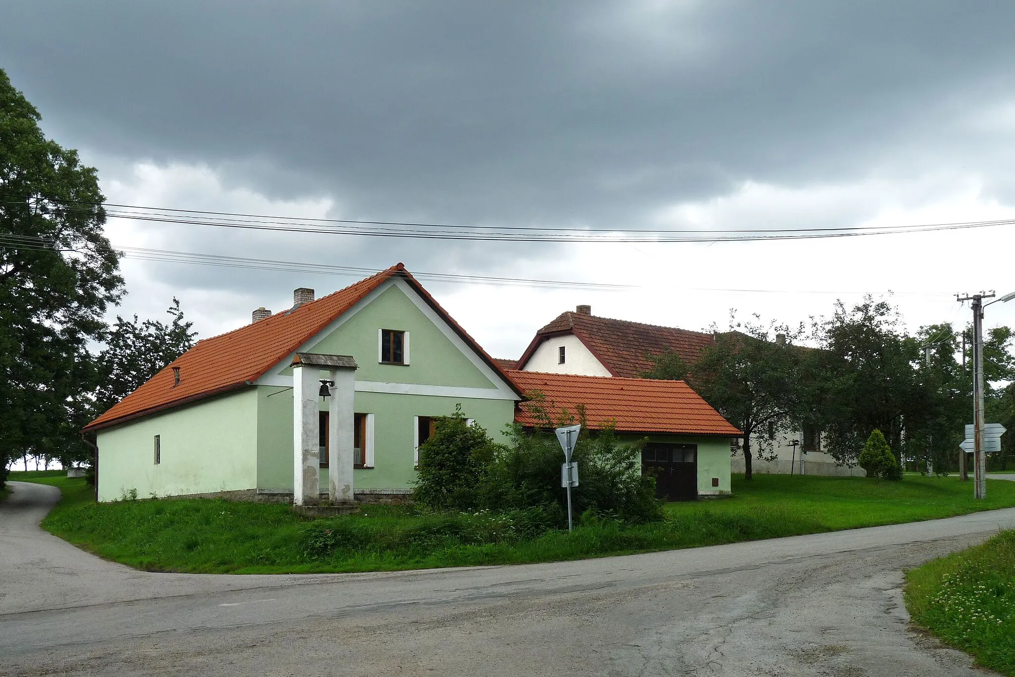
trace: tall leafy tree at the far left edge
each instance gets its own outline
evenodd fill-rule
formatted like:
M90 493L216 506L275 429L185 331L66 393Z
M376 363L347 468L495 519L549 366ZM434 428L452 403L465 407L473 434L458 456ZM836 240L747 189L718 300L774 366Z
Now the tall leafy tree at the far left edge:
M87 345L123 286L95 171L40 119L0 70L0 480L26 452L82 455L68 411L94 386Z

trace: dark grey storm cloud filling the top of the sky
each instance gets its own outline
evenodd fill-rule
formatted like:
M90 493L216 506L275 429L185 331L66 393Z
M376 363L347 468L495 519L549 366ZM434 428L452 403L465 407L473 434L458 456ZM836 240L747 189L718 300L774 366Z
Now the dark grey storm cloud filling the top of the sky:
M835 181L1013 84L984 2L31 2L0 60L75 143L362 217L629 222ZM940 139L939 139L940 140ZM947 141L947 139L945 139Z

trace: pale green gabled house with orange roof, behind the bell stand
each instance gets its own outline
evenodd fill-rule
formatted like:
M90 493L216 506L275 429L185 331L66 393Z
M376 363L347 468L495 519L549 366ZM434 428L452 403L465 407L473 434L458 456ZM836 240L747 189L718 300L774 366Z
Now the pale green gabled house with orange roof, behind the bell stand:
M88 424L99 500L409 493L432 421L491 432L519 388L402 264L199 341Z

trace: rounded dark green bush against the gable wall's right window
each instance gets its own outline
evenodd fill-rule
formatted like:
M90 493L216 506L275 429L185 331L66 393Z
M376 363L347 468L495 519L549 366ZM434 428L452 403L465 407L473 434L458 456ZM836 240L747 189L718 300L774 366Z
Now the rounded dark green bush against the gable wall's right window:
M493 460L495 445L478 424L469 425L461 405L437 419L433 434L419 446L415 499L435 510L479 506L479 485Z

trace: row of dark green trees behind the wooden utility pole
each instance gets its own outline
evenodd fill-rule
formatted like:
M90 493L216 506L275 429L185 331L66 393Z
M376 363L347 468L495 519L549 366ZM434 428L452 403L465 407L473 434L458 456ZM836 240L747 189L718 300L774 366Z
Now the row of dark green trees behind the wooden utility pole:
M644 376L686 380L744 432L746 475L754 458L771 459L777 434L815 428L822 451L856 465L880 430L896 459L930 461L941 472L959 465L963 426L972 421L971 331L941 323L905 329L888 300L868 295L830 318L795 328L731 318L728 331L693 363L675 352L652 356ZM777 340L773 340L777 339ZM987 416L1015 431L1012 330L987 332ZM1015 458L1015 434L1002 437L995 468Z

